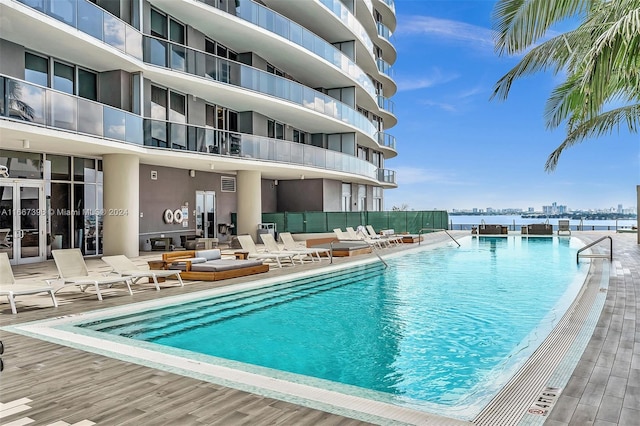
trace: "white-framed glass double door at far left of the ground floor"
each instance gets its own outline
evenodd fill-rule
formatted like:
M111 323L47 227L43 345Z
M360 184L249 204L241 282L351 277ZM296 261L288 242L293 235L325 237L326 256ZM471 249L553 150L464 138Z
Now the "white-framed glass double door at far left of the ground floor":
M0 179L0 252L12 264L45 260L46 213L41 182Z

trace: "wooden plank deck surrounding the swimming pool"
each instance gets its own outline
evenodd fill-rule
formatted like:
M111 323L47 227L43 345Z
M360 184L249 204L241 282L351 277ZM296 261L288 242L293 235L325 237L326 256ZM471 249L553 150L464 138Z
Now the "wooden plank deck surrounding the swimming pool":
M440 234L426 236L422 244L442 243L449 238ZM455 231L452 235L469 233ZM567 386L550 414L541 419L547 425L636 425L640 418L640 246L635 234L574 233L585 241L603 235L610 235L614 243L605 306ZM400 245L380 253L384 256L410 246ZM159 258L158 253L141 256L136 262L143 264L155 258ZM335 258L334 263L353 260ZM608 262L593 261L594 266ZM108 270L98 259L89 259L87 264L92 271ZM155 291L152 285L134 286L133 296L120 288L109 289L103 292L102 302L95 293L65 289L57 293L58 308L51 307L50 299L44 295L19 298L18 315L11 314L7 303L0 304L0 325L155 300L327 264L324 260L220 282L188 282L183 288L164 286L161 291ZM55 265L48 261L18 266L14 274L18 280L51 278L55 276ZM0 330L0 339L4 343L5 365L0 373L0 425L371 424L4 330ZM436 419L429 424L465 423L474 424L453 419Z

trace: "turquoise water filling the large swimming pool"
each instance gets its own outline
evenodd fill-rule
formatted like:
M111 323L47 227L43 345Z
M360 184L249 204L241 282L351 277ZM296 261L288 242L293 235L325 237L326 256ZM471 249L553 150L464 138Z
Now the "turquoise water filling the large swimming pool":
M588 263L570 237L461 243L81 327L411 408L483 404L562 317Z

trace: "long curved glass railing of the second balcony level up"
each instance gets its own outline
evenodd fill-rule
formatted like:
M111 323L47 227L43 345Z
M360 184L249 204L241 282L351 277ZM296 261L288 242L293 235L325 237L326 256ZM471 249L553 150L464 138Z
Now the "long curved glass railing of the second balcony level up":
M373 124L349 105L295 81L239 62L151 36L144 36L144 61L284 99L351 124L371 137L376 132Z

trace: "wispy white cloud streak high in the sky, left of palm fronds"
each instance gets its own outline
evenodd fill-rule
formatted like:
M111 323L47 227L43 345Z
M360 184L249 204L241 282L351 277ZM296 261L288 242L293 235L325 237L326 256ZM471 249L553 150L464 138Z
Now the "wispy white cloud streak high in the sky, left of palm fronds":
M400 34L423 34L439 39L462 41L475 47L493 49L492 30L465 22L430 16L413 16L399 28L398 33Z

